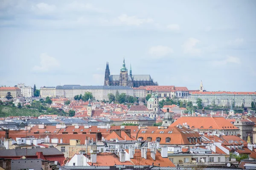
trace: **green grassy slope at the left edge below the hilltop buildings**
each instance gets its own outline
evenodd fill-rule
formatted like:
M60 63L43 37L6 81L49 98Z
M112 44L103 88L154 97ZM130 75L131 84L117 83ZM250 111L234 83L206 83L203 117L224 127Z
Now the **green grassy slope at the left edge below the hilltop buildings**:
M40 116L38 109L17 108L9 105L0 105L0 117L8 116Z

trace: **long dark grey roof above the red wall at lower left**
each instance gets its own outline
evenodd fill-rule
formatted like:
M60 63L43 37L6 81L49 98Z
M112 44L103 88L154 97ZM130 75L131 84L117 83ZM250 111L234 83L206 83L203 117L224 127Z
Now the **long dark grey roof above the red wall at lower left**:
M27 153L26 153L27 150ZM3 149L0 150L1 156L35 156L37 152L43 152L43 155L63 155L57 148L34 148L34 149Z

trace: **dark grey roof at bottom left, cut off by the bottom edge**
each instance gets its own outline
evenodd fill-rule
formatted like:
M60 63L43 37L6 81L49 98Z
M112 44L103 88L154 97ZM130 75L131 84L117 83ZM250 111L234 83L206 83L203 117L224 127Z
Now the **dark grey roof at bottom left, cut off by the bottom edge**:
M42 159L16 159L11 162L12 170L42 170Z

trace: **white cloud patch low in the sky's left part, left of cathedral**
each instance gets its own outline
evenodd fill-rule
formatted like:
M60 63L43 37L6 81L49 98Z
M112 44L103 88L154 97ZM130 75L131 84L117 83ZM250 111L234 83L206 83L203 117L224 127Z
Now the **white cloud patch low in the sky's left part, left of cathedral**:
M60 67L60 62L46 53L40 54L40 65L35 65L33 71L47 72Z

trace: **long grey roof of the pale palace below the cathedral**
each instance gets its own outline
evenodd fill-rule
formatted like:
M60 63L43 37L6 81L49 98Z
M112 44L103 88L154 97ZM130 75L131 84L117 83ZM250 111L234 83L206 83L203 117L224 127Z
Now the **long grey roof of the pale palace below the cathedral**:
M107 86L107 85L58 85L56 89L84 89L84 90L132 90L128 86Z

